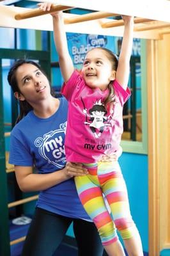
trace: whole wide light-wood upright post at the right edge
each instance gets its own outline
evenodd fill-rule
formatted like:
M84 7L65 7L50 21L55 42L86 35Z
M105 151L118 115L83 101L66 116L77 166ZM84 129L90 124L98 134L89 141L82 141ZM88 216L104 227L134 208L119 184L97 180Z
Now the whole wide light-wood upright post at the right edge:
M149 174L149 255L159 256L170 246L169 221L169 140L170 35L148 40L148 174ZM163 86L160 86L163 84ZM162 115L164 111L164 115ZM164 170L162 172L162 170Z

